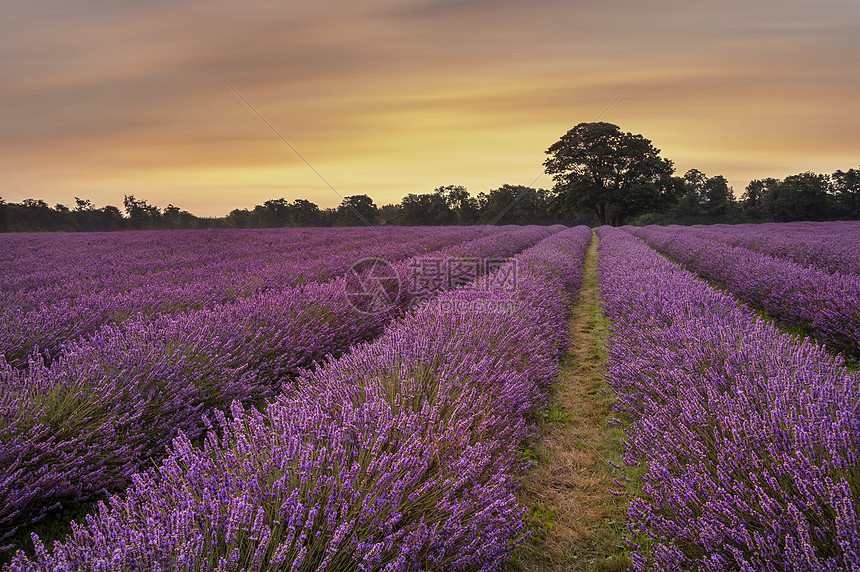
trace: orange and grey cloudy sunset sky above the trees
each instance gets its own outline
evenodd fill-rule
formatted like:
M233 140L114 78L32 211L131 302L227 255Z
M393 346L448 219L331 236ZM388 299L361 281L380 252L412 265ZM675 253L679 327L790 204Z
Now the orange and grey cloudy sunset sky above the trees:
M858 94L857 0L0 0L0 196L551 188L598 117L740 196L860 166Z

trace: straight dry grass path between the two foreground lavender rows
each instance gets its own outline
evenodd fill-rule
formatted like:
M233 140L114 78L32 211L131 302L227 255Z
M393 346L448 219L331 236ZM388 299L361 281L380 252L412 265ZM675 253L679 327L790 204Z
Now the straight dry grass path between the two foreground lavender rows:
M517 549L511 571L615 571L630 561L627 501L610 494L610 461L620 463L622 432L612 419L604 380L607 328L597 285L597 235L585 261L582 289L570 319L571 346L562 360L539 439L523 478L520 501L530 507L532 538Z

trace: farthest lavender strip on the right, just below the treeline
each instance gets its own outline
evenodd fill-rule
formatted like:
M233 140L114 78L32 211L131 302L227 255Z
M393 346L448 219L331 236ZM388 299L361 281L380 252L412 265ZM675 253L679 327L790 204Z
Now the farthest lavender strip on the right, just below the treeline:
M860 274L860 222L796 222L669 227L827 272Z

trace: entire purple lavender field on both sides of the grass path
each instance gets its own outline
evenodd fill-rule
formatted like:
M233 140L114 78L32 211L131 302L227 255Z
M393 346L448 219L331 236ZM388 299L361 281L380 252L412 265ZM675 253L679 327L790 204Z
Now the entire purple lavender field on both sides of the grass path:
M3 568L511 570L593 241L632 569L860 570L844 222L0 236Z

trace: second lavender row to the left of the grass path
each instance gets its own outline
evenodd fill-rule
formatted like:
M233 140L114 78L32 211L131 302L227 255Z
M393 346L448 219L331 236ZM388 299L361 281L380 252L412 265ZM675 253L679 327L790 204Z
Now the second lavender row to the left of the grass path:
M123 488L182 430L234 399L262 400L302 368L378 335L416 297L408 273L436 261L514 255L563 227L515 227L396 265L403 288L365 313L346 279L270 291L177 316L106 326L66 346L49 366L17 371L0 360L0 539L64 502ZM469 279L474 265L447 269ZM449 276L450 278L451 276Z

